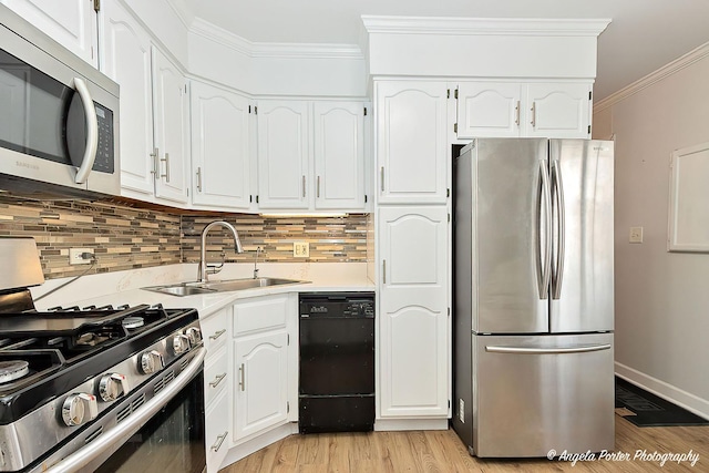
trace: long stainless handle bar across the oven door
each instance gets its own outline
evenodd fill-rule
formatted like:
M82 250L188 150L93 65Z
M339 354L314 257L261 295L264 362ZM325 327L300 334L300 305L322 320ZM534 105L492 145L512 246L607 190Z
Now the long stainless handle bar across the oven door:
M59 463L53 464L45 473L71 473L79 471L92 460L96 459L104 451L114 446L115 442L133 435L147 422L157 411L173 399L185 385L187 385L203 369L204 358L207 351L201 348L194 356L189 366L183 370L175 381L171 382L153 399L147 401L135 414L127 418L120 425L100 435L96 440L85 445L83 449L66 456Z

